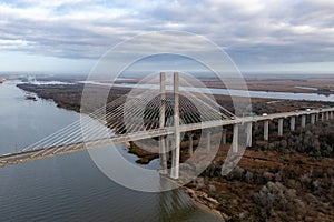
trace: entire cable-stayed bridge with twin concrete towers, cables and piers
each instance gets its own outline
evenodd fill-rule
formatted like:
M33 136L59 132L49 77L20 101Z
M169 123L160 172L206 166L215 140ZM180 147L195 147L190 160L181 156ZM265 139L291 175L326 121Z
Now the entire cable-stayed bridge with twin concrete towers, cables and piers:
M213 98L205 94L179 94L179 77L174 73L174 90L166 91L166 75L160 73L160 93L158 97L146 98L143 94L121 97L107 103L97 111L82 115L80 121L50 134L49 137L24 148L23 150L0 155L0 167L35 161L55 155L78 152L108 144L125 143L145 139L158 139L158 150L163 172L168 172L167 158L169 145L166 137L170 137L171 168L170 176L179 176L181 134L189 138L189 152L193 152L191 132L205 129L222 129L222 141L226 142L224 125L233 125L233 152L238 152L238 128L245 125L246 147L252 147L252 123L264 121L264 140L268 140L269 121L278 120L278 135L283 135L283 121L289 119L291 130L295 130L296 118L301 119L301 128L306 120L316 121L333 119L334 108L322 110L295 111L257 117L236 117L217 104ZM105 125L107 124L108 128ZM206 131L208 147L210 131Z

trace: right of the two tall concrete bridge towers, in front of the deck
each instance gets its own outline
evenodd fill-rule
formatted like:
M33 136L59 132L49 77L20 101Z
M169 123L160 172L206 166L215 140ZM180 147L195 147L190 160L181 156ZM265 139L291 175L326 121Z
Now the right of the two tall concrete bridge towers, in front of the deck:
M174 127L175 127L175 148L173 149L171 172L170 178L179 176L179 152L180 152L180 134L179 134L179 77L174 72Z

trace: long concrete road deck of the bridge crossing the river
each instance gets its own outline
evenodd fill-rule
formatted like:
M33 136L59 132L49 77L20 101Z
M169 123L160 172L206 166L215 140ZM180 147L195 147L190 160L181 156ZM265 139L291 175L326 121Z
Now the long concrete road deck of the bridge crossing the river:
M230 125L230 124L243 124L246 122L256 122L256 121L265 121L265 120L274 120L274 119L282 119L282 118L289 118L289 117L298 117L298 115L310 115L310 114L317 114L322 112L334 111L334 108L323 109L323 110L311 110L311 111L295 111L295 112L284 112L284 113L274 113L268 115L257 115L257 117L245 117L245 118L235 118L229 120L216 120L216 121L207 121L207 122L199 122L199 123L191 123L191 124L184 124L180 125L179 131L193 131L199 129L207 129L207 128L215 128L222 125ZM51 158L56 155L62 155L67 153L73 153L78 151L101 148L108 144L117 144L124 143L128 141L136 141L143 140L148 138L156 138L160 135L168 135L174 133L173 127L148 130L148 131L138 131L132 132L130 134L117 134L111 138L102 138L96 140L87 140L82 142L72 142L61 145L55 145L49 148L36 149L36 150L28 150L21 151L11 154L3 154L0 155L0 167L7 167L11 164L18 164L22 162Z

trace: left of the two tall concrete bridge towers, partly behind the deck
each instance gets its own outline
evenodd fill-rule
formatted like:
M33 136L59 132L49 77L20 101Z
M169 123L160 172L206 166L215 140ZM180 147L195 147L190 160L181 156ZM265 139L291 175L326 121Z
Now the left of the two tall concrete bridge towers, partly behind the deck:
M159 128L165 127L165 112L166 112L166 74L160 73L160 115L159 115ZM167 157L166 157L166 141L165 137L161 135L159 140L159 158L160 158L160 173L167 174Z

